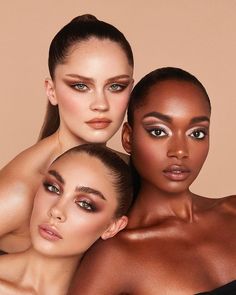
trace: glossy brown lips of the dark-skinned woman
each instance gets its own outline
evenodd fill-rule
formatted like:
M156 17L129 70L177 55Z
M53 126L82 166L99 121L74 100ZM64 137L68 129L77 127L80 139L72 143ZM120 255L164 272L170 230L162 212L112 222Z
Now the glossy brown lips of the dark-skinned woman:
M190 170L183 165L169 165L163 170L163 174L172 181L184 181L190 175Z

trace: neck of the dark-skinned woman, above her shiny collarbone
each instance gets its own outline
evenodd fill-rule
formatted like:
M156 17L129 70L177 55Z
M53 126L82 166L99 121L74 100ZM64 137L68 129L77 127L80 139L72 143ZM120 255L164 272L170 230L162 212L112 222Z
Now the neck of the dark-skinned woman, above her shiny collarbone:
M154 226L168 218L193 222L194 196L189 189L168 193L142 184L129 215L128 228Z

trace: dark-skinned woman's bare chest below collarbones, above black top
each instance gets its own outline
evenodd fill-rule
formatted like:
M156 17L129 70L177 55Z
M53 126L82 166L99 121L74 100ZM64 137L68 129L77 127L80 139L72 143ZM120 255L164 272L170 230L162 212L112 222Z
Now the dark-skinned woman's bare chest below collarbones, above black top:
M194 294L235 279L235 232L236 220L226 220L136 241L129 261L131 294Z

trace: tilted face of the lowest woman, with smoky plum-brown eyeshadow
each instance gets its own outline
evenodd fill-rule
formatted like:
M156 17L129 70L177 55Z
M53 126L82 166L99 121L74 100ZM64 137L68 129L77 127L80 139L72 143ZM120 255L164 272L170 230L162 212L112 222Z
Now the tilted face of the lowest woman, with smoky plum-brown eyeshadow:
M113 182L110 170L85 153L67 154L54 162L34 201L34 248L48 255L73 256L109 234L118 205Z

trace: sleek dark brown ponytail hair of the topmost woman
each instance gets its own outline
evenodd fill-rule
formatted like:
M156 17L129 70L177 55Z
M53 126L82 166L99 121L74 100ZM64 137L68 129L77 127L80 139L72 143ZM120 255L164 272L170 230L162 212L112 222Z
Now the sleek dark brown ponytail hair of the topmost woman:
M111 24L100 21L93 15L85 14L75 17L53 38L48 57L48 67L52 79L54 78L56 66L65 62L71 46L75 43L87 41L92 37L101 40L109 39L119 44L127 56L128 63L132 67L134 66L132 49L125 36ZM39 140L53 134L59 125L60 116L58 106L54 106L48 102Z

